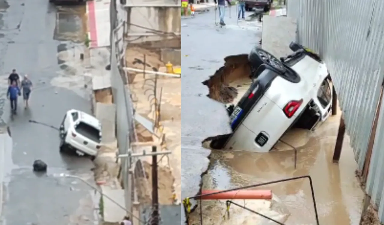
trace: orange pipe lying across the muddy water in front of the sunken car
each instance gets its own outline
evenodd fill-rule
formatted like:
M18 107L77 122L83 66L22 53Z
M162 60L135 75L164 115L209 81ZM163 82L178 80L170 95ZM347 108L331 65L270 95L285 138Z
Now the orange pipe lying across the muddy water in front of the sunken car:
M213 194L220 192L220 190L202 190L201 194L212 194L208 196L203 196L201 199L213 200L213 199L272 199L271 190L233 190L229 192L223 192L218 194ZM199 199L199 198L198 198Z

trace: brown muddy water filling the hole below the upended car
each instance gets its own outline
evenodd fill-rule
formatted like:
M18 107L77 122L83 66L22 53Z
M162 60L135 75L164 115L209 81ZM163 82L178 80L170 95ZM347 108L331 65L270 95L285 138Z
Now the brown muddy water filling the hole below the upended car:
M276 145L278 150L265 154L250 153L240 149L212 151L209 172L203 178L204 188L229 189L270 180L310 175L313 179L320 224L357 225L360 219L363 192L354 174L356 163L348 138L344 141L339 164L332 163L338 122L339 116L333 116L315 132L296 129L282 138L298 149L296 169L294 169L293 151L283 143ZM284 182L264 188L273 191L278 200L275 206L288 209L290 215L285 224L316 224L308 180ZM255 204L260 208L261 203ZM217 208L217 210L209 210L209 208ZM214 224L208 221L215 217L222 218L224 209L223 202L204 202L203 212L206 216L204 224ZM259 212L268 214L271 211L273 210L263 207ZM212 215L212 213L217 214ZM272 218L284 215L281 212L277 214ZM252 217L252 213L245 213L245 217L248 217L248 220L260 219L260 217ZM247 224L237 222L236 224Z

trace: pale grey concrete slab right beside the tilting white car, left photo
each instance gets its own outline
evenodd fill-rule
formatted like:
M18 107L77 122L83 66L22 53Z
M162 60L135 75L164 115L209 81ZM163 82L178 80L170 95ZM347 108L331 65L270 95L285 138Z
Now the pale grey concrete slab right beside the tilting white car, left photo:
M101 132L103 133L101 141L103 143L113 142L115 140L116 105L96 103L95 115L101 122Z

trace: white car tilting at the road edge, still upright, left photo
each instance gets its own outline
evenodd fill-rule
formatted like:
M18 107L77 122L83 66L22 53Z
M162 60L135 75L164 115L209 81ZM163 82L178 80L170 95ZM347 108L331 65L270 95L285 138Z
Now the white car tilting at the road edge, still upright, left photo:
M60 152L72 150L93 160L101 147L101 122L85 112L71 109L60 124Z

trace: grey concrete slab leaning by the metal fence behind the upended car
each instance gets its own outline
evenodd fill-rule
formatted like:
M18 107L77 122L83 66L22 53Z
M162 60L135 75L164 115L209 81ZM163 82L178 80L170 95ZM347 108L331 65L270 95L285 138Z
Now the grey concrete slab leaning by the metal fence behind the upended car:
M296 27L296 19L263 16L262 48L277 58L292 53L289 44L296 40Z

